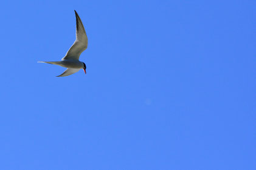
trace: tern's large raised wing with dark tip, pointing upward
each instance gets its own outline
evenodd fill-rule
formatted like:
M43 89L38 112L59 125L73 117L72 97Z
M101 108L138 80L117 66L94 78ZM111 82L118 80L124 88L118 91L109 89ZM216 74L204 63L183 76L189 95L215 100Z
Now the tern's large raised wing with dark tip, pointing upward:
M88 38L85 32L85 27L83 27L83 23L81 22L80 17L75 11L75 18L77 20L77 31L76 31L76 39L74 44L69 48L67 51L66 56L63 57L64 59L79 59L80 54L86 50L88 45Z

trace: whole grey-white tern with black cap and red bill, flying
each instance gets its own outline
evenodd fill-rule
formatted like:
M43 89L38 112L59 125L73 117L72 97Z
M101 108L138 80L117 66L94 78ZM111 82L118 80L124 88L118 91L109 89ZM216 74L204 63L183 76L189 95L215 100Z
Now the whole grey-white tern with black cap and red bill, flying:
M75 11L75 10L74 10ZM61 59L61 61L38 61L40 63L54 64L60 65L61 67L66 67L67 69L56 77L64 77L69 76L71 74L77 73L81 68L85 71L86 74L86 64L79 60L80 54L86 50L88 46L88 38L85 32L85 27L83 27L83 23L81 22L80 17L75 11L75 19L76 19L76 39L74 44L69 48L66 55Z

